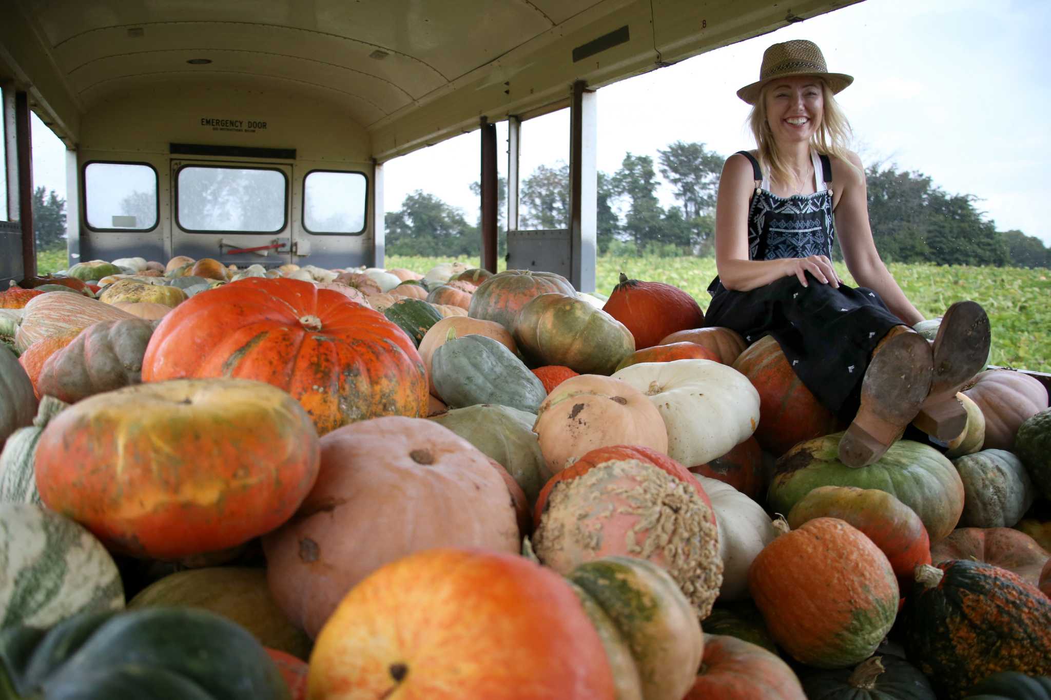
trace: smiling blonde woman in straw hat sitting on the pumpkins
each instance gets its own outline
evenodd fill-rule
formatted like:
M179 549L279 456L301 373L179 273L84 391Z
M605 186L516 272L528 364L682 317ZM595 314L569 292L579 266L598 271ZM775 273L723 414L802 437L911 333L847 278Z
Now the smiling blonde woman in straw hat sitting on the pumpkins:
M830 73L809 41L775 44L759 81L738 90L753 105L758 148L727 158L716 207L716 262L706 325L748 342L771 335L827 408L852 417L840 460L871 464L915 421L948 441L966 425L955 393L984 366L989 320L953 304L933 343L911 326L923 316L872 242L865 171L845 147L849 125L833 94L853 78ZM831 264L840 237L850 274Z

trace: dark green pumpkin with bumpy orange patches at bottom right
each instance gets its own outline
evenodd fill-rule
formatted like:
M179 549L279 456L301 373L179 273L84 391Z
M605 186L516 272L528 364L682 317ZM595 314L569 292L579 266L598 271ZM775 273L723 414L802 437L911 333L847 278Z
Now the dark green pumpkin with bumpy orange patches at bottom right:
M998 671L1051 675L1051 600L1010 571L966 559L937 566L906 598L905 648L940 697L961 698Z

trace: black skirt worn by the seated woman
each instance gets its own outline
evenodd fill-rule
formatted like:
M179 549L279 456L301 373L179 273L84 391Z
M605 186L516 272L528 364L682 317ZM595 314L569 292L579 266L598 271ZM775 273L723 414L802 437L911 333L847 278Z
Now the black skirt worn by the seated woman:
M708 290L713 296L704 324L733 328L748 344L774 336L818 401L850 420L872 349L903 321L872 290L837 289L806 274L808 287L792 276L747 292L729 291L717 277Z

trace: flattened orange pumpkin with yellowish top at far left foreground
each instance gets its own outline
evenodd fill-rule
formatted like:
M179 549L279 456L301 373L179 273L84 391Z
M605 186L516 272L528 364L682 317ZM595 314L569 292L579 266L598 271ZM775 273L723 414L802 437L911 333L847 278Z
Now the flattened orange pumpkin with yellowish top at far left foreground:
M51 419L37 488L108 548L170 559L235 547L295 512L317 434L286 393L245 380L179 380L98 394Z

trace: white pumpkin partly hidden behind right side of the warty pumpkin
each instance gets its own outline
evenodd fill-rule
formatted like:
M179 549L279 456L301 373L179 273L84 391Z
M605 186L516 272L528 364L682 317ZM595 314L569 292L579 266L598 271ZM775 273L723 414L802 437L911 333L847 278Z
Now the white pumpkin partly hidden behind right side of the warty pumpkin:
M778 536L774 522L758 503L718 479L694 474L712 499L719 530L719 556L723 560L720 600L748 597L748 568Z

